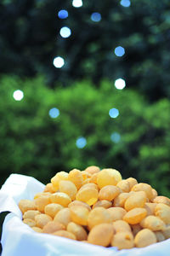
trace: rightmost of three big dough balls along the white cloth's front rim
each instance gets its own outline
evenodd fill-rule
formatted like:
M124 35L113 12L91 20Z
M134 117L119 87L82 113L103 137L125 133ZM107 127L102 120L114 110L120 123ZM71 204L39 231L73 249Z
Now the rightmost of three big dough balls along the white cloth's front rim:
M134 244L136 247L147 247L155 242L156 235L153 231L148 229L140 230L134 238Z

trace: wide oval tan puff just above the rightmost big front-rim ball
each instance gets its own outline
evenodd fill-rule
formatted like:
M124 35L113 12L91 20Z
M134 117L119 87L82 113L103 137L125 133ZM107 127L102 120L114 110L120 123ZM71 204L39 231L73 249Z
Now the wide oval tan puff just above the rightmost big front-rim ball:
M140 225L144 229L149 229L152 231L164 230L166 227L161 218L158 218L153 215L143 218L143 220L140 222Z

